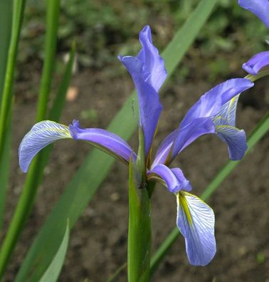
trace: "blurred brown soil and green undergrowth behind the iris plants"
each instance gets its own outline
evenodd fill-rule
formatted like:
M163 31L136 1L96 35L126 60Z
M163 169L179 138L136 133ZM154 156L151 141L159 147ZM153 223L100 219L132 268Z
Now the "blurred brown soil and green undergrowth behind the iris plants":
M164 112L154 141L156 147L179 125L201 94L223 80L245 76L241 65L253 54L268 49L268 30L263 23L241 9L235 0L218 2L194 45L162 89ZM117 55L135 55L139 51L138 33L145 24L151 26L154 45L162 51L197 3L198 0L63 0L55 87L73 41L77 44L77 57L61 122L68 124L75 118L83 127L107 127L133 89ZM16 72L13 169L6 225L25 179L17 164L17 148L36 115L45 16L43 1L27 1ZM245 129L247 135L268 109L268 86L269 80L265 78L241 95L238 127ZM130 142L137 148L137 135ZM205 268L190 266L184 239L180 237L153 281L269 281L268 147L267 135L207 201L216 214L217 254L212 263ZM7 281L13 281L38 229L90 149L89 145L72 140L56 143L33 214L9 266ZM194 187L194 194L199 195L227 161L226 145L216 136L204 136L189 146L173 167L181 167ZM153 245L157 249L175 226L176 201L163 187L157 186L155 190L152 226ZM117 163L71 233L60 281L105 281L125 263L127 216L127 168ZM117 281L126 281L126 271Z

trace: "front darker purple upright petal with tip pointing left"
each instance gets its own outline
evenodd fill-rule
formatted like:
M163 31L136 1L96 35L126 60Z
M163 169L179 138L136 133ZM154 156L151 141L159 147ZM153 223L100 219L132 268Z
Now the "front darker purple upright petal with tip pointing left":
M119 57L120 61L130 72L137 88L139 104L139 125L144 133L144 152L147 157L152 145L154 132L157 128L159 115L162 112L162 104L159 95L152 85L144 81L144 66L142 62L131 56Z

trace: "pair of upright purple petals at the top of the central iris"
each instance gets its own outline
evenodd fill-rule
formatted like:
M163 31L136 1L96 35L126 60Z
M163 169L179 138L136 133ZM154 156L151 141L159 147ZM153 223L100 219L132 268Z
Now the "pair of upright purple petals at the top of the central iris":
M147 157L154 132L157 128L162 104L159 102L157 91L167 76L164 60L159 56L157 48L152 44L149 26L139 33L142 50L136 57L119 56L127 68L137 89L139 104L139 125L144 133L144 151Z

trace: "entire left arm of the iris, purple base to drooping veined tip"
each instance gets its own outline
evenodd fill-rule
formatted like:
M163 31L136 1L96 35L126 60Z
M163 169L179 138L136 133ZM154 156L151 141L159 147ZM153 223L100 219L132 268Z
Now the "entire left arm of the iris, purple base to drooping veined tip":
M19 164L23 172L27 172L33 157L44 147L56 140L73 138L85 140L98 149L107 152L119 160L128 163L130 156L136 159L132 148L121 137L99 128L80 128L79 122L74 120L73 125L60 125L51 120L38 122L28 132L19 147Z

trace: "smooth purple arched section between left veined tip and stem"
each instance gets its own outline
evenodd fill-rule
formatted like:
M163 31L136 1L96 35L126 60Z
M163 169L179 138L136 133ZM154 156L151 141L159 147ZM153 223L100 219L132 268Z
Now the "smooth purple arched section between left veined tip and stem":
M100 128L81 128L77 120L74 120L73 124L69 125L69 130L75 140L88 141L93 146L117 159L128 163L131 155L135 157L132 148L127 142L112 132Z

